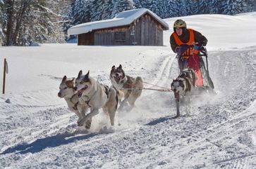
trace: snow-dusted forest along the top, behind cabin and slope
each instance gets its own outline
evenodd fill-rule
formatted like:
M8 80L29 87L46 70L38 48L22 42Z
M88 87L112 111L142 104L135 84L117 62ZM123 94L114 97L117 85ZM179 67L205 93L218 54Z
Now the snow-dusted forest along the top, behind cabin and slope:
M160 18L196 14L236 15L256 11L255 0L0 0L0 39L4 46L60 42L69 27L148 8Z

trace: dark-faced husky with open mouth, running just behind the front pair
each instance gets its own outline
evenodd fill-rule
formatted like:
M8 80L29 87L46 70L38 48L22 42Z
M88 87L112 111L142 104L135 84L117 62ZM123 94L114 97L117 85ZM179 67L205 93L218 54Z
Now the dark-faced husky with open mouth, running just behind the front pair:
M110 72L110 80L112 86L118 90L122 90L124 93L124 99L118 107L118 111L121 111L123 107L126 107L128 103L128 111L135 107L135 101L140 97L143 88L142 78L140 76L134 79L131 76L127 76L122 69L122 65L119 67L113 66Z

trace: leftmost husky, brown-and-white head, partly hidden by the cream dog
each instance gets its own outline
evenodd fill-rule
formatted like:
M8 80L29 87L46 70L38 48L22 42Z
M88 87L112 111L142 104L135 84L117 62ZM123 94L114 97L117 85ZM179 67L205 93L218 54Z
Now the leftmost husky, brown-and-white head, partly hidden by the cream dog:
M88 107L87 104L79 104L78 94L75 94L74 79L68 80L66 76L63 76L61 84L59 86L58 96L64 98L68 104L68 109L73 111L78 116L78 121L85 117ZM85 128L90 128L91 121L87 121Z

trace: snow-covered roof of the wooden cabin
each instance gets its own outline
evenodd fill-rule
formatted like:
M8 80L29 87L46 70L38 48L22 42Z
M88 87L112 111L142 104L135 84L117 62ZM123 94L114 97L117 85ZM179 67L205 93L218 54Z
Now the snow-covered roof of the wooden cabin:
M137 20L145 13L150 13L152 17L157 20L161 25L164 26L165 30L169 29L169 25L164 22L159 16L146 8L133 9L129 11L123 11L116 15L115 18L110 20L99 20L95 22L86 22L83 24L75 25L68 29L68 35L72 34L85 34L87 32L92 32L95 29L109 28L109 27L120 27L125 25L130 25L134 20Z

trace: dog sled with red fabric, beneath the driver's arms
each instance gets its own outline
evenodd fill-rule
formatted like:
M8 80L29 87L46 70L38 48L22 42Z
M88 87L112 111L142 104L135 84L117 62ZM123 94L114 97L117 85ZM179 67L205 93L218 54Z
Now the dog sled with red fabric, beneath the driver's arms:
M197 47L197 46L196 46ZM192 68L197 75L195 90L192 95L203 95L214 92L214 83L209 76L208 53L205 47L183 45L177 48L179 74L186 68Z

